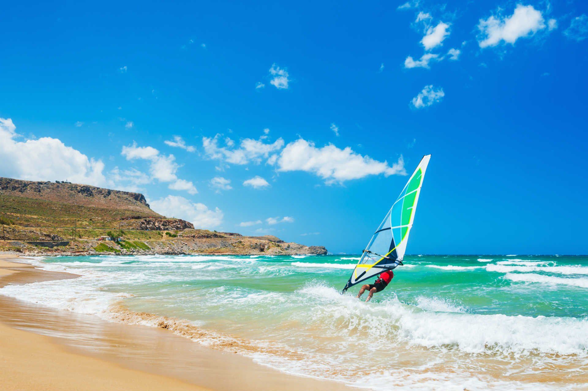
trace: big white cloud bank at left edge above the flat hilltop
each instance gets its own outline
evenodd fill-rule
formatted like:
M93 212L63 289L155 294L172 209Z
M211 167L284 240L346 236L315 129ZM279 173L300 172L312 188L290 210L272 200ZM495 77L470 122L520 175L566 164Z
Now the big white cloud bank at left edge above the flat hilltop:
M52 137L16 141L18 137L12 119L0 118L0 176L105 186L101 160L88 158Z

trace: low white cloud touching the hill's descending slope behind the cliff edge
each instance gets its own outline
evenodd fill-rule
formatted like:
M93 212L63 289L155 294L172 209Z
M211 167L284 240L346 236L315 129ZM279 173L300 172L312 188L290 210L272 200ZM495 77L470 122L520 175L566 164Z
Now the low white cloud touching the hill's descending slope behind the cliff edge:
M192 203L178 195L168 195L151 201L151 208L168 217L182 218L194 224L195 228L215 228L222 224L223 213L219 208L210 210L205 204Z

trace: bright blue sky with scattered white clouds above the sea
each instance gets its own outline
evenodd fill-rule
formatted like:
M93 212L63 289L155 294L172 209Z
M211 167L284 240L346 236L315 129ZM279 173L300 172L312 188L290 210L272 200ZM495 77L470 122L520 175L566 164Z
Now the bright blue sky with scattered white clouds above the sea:
M432 154L409 254L588 252L583 2L2 8L0 176L357 253Z

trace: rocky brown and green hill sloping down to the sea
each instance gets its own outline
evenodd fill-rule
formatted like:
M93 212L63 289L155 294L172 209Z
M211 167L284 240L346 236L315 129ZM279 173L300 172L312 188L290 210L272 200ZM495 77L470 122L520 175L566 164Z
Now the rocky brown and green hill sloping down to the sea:
M74 183L0 177L0 224L0 251L34 255L326 254L273 236L198 230L155 213L143 194Z

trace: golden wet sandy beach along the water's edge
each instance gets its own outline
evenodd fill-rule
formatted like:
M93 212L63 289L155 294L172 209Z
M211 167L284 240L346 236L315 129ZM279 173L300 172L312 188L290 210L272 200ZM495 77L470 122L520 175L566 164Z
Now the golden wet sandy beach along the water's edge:
M25 262L0 255L0 287L78 277ZM3 295L0 310L0 339L14 341L0 354L2 373L9 379L4 389L352 389L288 375L159 327L112 323ZM32 350L34 356L19 353ZM38 373L46 375L39 379Z

